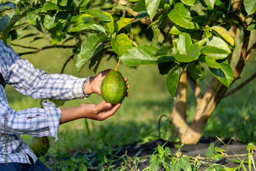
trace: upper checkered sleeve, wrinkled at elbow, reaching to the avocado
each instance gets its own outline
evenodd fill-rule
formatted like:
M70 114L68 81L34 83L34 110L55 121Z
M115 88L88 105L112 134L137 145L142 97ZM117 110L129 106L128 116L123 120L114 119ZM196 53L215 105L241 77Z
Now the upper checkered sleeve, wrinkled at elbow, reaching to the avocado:
M17 91L32 98L51 98L70 100L87 98L89 95L83 91L83 86L90 77L77 78L67 74L48 74L40 69L35 69L28 60L20 58L10 47L4 47L6 83ZM8 60L7 60L8 59ZM2 61L2 60L1 60Z

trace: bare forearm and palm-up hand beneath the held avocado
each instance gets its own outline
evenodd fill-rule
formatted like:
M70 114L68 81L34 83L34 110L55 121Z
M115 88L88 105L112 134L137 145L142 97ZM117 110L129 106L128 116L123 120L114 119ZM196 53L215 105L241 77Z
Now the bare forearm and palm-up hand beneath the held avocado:
M79 106L60 108L60 124L79 118L103 121L104 119L114 115L120 105L121 103L112 105L111 103L107 103L103 100L99 104L82 103Z

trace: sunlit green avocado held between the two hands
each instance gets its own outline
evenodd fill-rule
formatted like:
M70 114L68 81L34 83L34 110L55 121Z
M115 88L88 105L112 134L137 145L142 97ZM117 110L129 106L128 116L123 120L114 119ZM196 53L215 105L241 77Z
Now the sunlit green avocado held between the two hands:
M119 71L111 70L101 82L100 93L106 102L118 104L123 101L126 92L126 83Z

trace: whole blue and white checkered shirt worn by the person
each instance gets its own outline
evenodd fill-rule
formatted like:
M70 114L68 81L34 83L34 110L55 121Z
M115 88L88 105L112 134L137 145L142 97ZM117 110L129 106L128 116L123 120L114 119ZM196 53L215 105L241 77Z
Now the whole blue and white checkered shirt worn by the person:
M0 40L0 73L4 85L9 84L22 94L33 98L52 98L70 100L87 98L83 84L88 78L77 78L66 74L47 74L35 69L29 61L22 59ZM0 85L0 163L31 163L28 155L35 162L35 154L20 137L21 134L33 136L53 136L57 132L61 118L59 108L44 100L42 108L25 110L12 109L8 104L6 92ZM32 118L32 119L31 119Z

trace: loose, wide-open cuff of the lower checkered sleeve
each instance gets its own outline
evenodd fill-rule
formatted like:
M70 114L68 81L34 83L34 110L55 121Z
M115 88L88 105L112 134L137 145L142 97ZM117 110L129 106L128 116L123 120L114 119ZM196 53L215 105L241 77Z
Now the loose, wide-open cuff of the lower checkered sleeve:
M59 108L56 108L56 105L48 100L42 101L42 105L46 111L48 117L48 125L50 129L50 133L53 137L55 137L55 141L57 141L57 133L59 129L59 122L61 118L61 111Z

